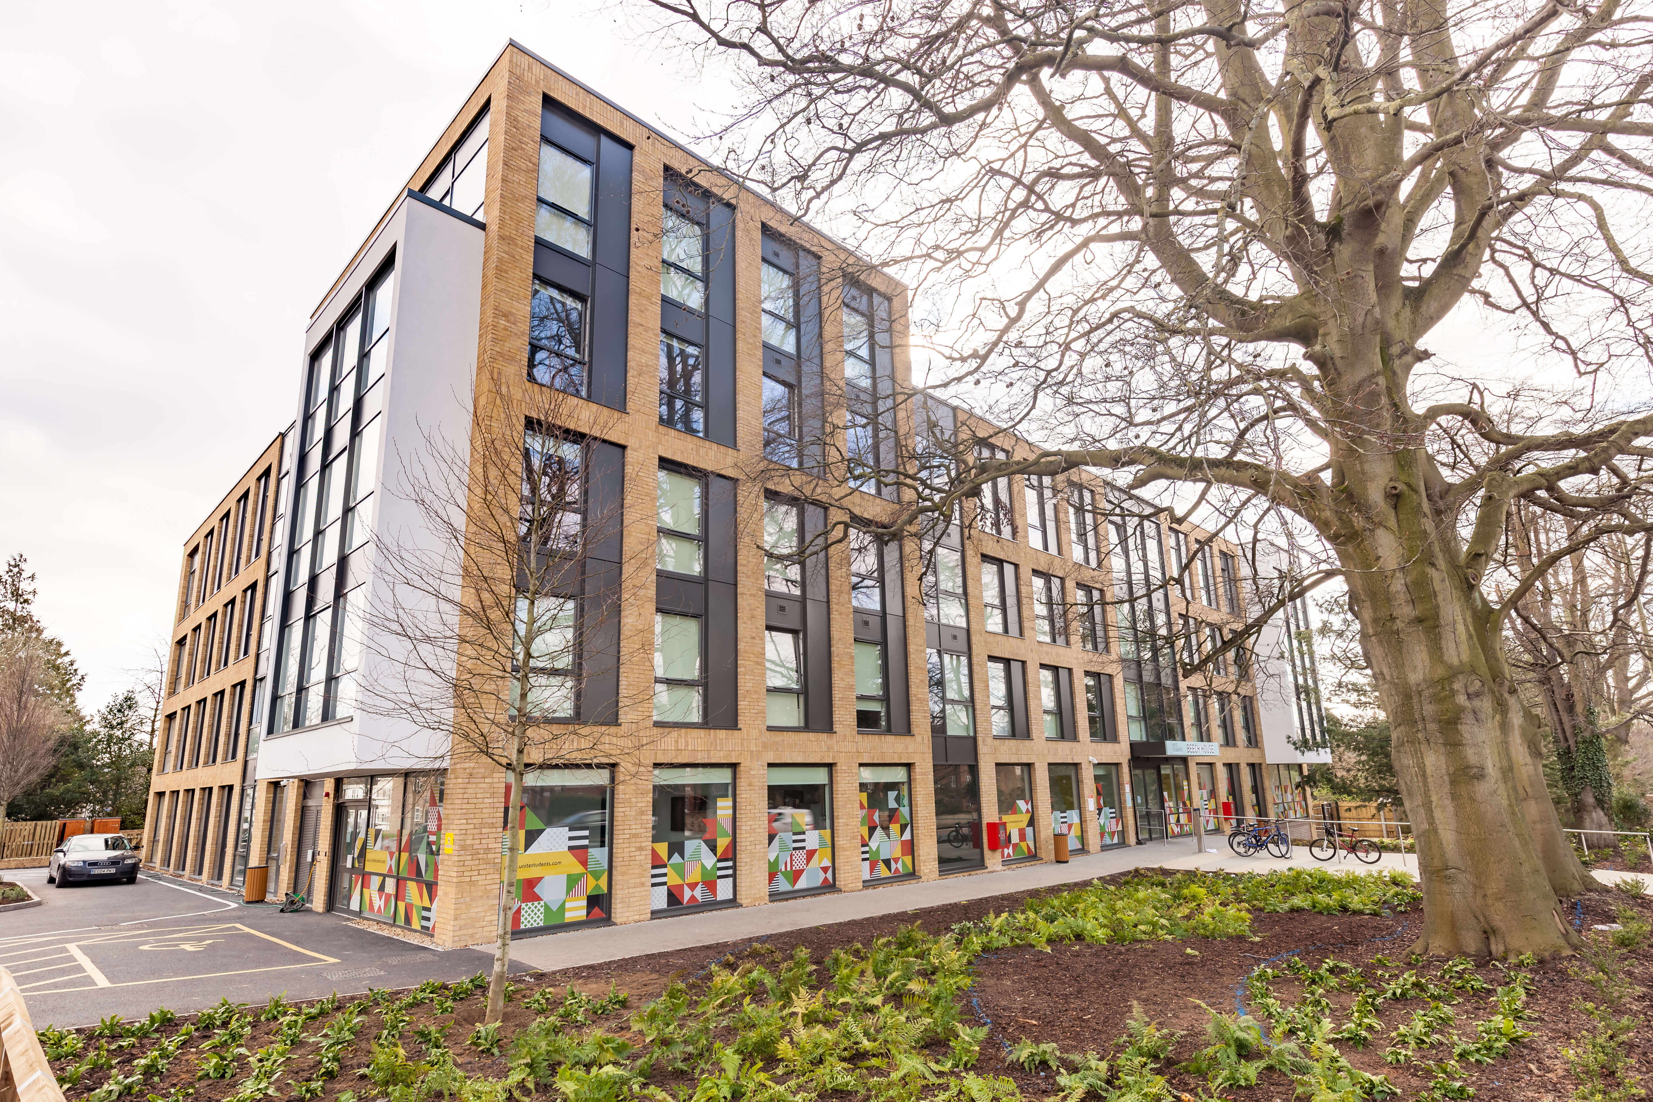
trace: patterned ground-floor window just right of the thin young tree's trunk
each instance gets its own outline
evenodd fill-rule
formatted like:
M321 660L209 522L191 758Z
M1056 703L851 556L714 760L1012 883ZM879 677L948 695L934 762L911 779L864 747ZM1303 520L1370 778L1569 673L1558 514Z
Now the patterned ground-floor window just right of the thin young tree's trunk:
M542 930L610 915L612 783L610 770L600 767L529 770L522 778L512 930Z

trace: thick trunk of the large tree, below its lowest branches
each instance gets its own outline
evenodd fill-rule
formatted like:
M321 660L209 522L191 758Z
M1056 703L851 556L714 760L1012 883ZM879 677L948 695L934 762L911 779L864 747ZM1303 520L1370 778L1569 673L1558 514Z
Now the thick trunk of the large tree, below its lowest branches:
M1544 788L1537 729L1504 672L1484 598L1435 540L1413 552L1390 568L1364 560L1347 577L1418 843L1417 952L1567 953L1577 938L1557 899L1590 879Z

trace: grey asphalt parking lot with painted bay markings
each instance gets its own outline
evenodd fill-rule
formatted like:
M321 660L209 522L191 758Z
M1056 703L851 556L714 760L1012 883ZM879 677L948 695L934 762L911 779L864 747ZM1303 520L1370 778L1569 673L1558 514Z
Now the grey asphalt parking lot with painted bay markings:
M342 915L279 914L198 884L142 874L137 884L46 884L15 869L45 905L0 914L0 967L23 990L36 1028L88 1026L107 1014L180 1014L220 998L263 1003L332 991L413 986L488 970L489 953L438 952L350 925Z

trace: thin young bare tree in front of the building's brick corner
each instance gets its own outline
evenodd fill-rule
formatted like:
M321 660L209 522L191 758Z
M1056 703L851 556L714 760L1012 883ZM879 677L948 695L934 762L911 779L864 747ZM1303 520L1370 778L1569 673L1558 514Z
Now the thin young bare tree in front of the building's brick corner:
M622 631L622 595L653 587L655 532L622 540L615 420L554 387L496 380L479 383L466 438L425 428L387 463L415 520L375 534L385 585L362 613L359 707L435 737L431 765L451 755L509 775L488 1021L504 1013L526 773L635 768L655 739L651 681L620 676L623 656L653 653L648 625Z

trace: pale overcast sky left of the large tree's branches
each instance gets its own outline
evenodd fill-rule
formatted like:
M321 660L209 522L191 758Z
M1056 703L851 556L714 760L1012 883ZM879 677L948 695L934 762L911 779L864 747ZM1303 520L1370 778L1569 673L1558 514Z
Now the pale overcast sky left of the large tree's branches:
M164 644L311 309L507 38L676 131L721 106L597 3L0 5L0 558L84 709Z

